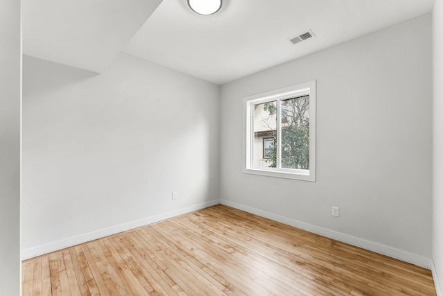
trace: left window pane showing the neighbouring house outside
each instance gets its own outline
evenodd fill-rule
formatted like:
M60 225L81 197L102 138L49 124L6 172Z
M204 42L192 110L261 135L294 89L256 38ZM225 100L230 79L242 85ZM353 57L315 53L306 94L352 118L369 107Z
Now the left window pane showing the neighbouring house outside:
M256 104L253 105L253 108L253 166L275 168L276 151L273 143L275 143L275 138L277 137L277 101Z

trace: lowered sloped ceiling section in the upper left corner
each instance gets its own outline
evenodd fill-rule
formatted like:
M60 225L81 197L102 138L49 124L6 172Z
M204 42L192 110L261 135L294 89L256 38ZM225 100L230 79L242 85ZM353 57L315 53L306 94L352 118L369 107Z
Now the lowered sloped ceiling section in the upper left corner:
M22 0L23 52L101 73L161 0Z

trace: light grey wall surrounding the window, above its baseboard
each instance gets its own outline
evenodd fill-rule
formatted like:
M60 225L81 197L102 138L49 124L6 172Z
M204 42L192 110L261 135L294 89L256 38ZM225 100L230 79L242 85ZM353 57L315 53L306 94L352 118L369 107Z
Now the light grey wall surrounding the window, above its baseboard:
M221 202L430 267L431 67L425 15L223 85ZM314 79L317 181L243 174L242 98Z

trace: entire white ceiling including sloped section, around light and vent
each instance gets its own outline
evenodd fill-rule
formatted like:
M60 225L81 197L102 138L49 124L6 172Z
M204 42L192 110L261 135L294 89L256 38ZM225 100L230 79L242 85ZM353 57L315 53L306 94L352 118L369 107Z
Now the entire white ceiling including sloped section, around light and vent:
M100 73L123 50L223 84L433 6L433 0L224 0L219 13L200 16L186 0L159 2L22 0L24 53ZM309 29L316 37L289 43Z

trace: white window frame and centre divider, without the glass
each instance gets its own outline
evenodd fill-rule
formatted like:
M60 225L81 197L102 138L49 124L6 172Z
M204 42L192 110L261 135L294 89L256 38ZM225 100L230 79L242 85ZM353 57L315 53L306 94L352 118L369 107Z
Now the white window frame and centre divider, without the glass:
M269 101L282 101L309 94L309 170L294 168L263 168L253 166L253 105ZM281 177L294 180L316 182L316 80L291 85L282 89L275 89L262 94L255 94L243 98L244 107L244 148L243 148L243 173ZM277 141L278 163L281 155L281 104L277 104Z

